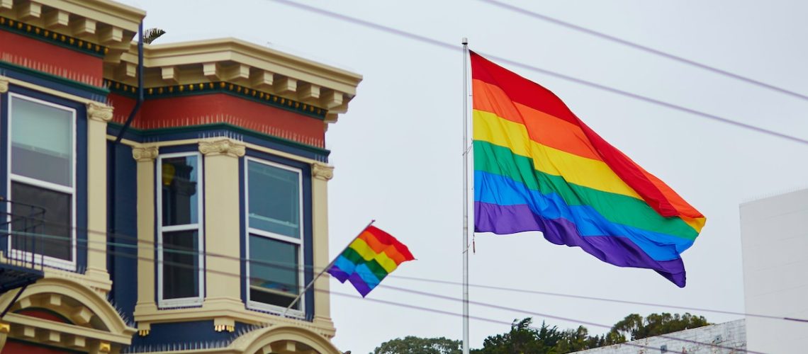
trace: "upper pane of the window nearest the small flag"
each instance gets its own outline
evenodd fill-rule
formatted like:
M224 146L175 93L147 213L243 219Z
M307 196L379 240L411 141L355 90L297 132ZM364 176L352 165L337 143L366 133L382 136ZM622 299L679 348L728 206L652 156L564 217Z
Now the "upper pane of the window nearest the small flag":
M299 239L299 173L255 161L248 166L250 227Z

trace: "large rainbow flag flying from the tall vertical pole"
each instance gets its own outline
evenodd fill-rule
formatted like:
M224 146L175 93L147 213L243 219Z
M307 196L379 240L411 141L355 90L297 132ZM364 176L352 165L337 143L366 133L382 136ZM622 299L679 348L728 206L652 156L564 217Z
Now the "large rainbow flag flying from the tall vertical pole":
M541 85L474 52L471 71L475 231L542 231L684 287L704 215Z

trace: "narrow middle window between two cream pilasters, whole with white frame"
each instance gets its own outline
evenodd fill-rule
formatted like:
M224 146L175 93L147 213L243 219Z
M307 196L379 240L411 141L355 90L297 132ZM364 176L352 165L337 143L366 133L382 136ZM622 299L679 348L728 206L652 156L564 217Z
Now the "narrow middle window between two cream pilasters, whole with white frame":
M158 302L161 307L202 302L202 172L198 152L157 160Z

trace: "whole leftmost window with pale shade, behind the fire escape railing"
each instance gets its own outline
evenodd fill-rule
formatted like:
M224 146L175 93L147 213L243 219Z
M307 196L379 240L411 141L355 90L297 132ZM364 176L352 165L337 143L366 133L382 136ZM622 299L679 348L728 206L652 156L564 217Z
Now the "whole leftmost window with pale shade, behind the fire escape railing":
M44 211L36 228L11 223L11 256L75 269L76 111L9 94L8 116L11 214Z

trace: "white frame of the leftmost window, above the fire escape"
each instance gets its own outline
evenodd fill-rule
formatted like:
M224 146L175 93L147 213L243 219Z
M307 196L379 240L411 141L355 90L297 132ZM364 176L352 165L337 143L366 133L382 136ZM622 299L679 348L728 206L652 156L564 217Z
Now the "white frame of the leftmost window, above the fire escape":
M72 168L72 170L71 170L71 173L72 173L72 176L71 176L72 183L71 183L71 185L72 186L67 187L65 185L58 185L58 184L53 183L53 182L40 181L40 180L37 180L36 178L32 178L32 177L19 176L19 175L14 174L11 171L11 159L13 158L12 154L11 154L11 134L13 134L13 131L11 131L11 126L12 126L11 122L12 122L12 119L14 119L14 117L11 115L11 111L12 111L12 106L14 105L14 99L15 98L16 99L22 99L22 100L25 100L25 101L28 101L28 102L34 102L34 103L41 104L41 105L44 105L44 106L51 106L51 107L57 108L59 110L66 110L66 111L69 111L71 113L70 127L72 127L71 133L72 133L72 143L73 143L73 149L72 149L73 156L71 156L70 165L71 165L71 168ZM58 268L58 269L65 269L65 270L75 272L76 271L76 264L77 264L76 263L77 262L76 257L78 256L77 255L78 252L76 251L76 244L77 244L77 240L76 240L76 184L78 183L78 181L76 181L76 165L77 165L76 149L78 148L78 142L76 141L76 130L77 130L77 127L76 127L76 110L74 108L57 105L56 103L53 103L53 102L48 102L48 101L44 101L44 100L41 100L41 99L38 99L38 98L32 98L32 97L24 96L22 94L15 94L13 92L8 93L7 100L8 100L8 111L7 111L6 117L8 117L8 119L6 119L6 134L8 136L6 136L6 144L7 144L6 145L6 157L7 157L6 158L6 164L7 164L6 165L6 170L8 171L8 178L6 179L6 191L7 191L7 194L8 194L8 198L11 201L14 200L14 196L11 195L11 182L12 181L25 183L27 185L33 185L33 186L35 186L37 188L48 189L48 190L53 190L55 192L69 194L70 195L70 219L71 219L70 220L71 224L70 224L69 227L70 227L70 239L71 239L70 244L71 244L71 248L72 248L72 256L70 258L72 260L62 260L60 258L56 258L56 257L52 257L52 256L44 256L44 255L41 255L41 254L32 254L32 252L25 252L25 251L22 251L22 250L17 250L17 249L11 248L11 237L8 238L8 251L9 251L8 255L11 258L15 259L15 260L26 260L26 261L33 260L34 264L44 264L45 266L48 266L48 267L53 267L53 268ZM6 220L11 221L11 215L8 215ZM11 227L11 224L9 224L8 227ZM88 245L88 248L89 248L89 245Z

